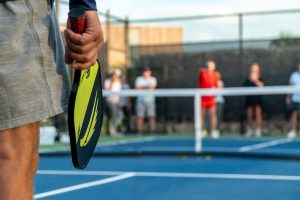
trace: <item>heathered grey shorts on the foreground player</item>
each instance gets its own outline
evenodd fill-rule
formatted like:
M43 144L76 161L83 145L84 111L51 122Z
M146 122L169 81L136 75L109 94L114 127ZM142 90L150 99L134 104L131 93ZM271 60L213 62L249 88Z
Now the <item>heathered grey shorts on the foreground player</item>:
M70 82L49 1L0 3L0 130L67 110Z

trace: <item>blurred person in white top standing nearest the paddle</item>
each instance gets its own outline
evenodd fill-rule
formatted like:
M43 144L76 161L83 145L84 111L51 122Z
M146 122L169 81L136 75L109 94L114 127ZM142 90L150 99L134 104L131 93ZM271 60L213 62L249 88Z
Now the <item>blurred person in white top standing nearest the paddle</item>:
M113 71L111 78L105 80L104 88L111 92L120 92L122 90L122 84L120 81L120 71ZM111 116L111 126L109 127L109 132L111 136L117 136L119 133L117 131L118 125L122 121L122 112L120 109L120 96L108 96L106 97L106 103L110 111Z

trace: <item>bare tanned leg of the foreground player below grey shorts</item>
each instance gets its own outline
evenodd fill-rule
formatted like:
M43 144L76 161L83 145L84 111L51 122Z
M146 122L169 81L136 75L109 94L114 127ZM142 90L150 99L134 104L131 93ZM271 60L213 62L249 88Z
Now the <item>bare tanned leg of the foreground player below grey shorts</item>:
M0 131L0 199L32 200L39 123Z

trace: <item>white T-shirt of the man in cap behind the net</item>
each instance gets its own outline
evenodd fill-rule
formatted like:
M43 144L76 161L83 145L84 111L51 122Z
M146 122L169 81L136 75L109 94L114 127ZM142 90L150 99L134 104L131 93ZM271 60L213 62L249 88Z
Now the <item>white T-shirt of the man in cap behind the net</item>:
M135 87L156 87L156 86L157 86L157 80L153 76L149 78L145 78L144 76L139 76L135 81ZM151 103L155 101L155 98L152 95L139 96L137 98L137 101Z

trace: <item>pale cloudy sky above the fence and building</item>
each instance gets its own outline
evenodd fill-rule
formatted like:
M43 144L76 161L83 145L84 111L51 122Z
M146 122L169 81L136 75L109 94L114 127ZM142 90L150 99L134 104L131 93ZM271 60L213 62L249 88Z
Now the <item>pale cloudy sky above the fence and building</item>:
M110 10L113 15L122 18L140 19L300 9L300 0L97 0L97 6L102 12ZM60 22L66 21L67 9L61 4ZM247 17L244 19L244 38L274 38L282 33L300 36L299 22L300 13ZM180 26L184 30L184 40L191 42L234 40L238 37L238 19L233 17L151 25Z

